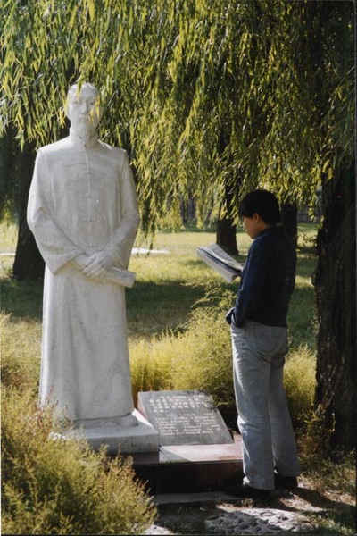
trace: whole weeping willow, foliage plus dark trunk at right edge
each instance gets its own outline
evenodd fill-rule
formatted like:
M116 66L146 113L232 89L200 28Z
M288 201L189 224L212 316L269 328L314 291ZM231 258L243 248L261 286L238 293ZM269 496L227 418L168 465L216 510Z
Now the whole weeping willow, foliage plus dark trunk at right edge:
M355 214L351 187L340 220L331 218L337 184L353 180L353 4L4 0L0 24L0 132L24 148L61 138L67 88L94 83L104 105L100 138L129 152L144 232L180 222L180 199L189 196L198 222L211 214L234 228L237 200L250 188L313 205L323 187L317 402L336 422L353 422L355 329L348 321L342 339L336 330L353 314L353 300L342 313L348 300L338 282L347 264L353 281L354 242L329 247L337 229L352 232ZM339 289L333 303L331 288ZM328 371L338 364L345 375L335 373L332 391ZM346 377L342 416L336 392Z

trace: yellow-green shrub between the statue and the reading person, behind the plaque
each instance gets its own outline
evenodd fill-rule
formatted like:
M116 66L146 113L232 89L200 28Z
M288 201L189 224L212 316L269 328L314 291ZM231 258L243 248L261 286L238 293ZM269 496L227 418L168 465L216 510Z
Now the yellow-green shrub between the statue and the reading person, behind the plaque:
M230 334L225 321L229 296L220 286L207 292L187 324L150 343L130 345L134 397L140 390L201 390L217 406L234 406Z

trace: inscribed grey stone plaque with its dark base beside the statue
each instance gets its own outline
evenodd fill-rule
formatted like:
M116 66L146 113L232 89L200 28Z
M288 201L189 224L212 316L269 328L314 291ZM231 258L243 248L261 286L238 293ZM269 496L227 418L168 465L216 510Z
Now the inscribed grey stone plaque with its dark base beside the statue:
M138 393L139 412L160 434L158 452L132 455L137 477L154 495L220 491L243 478L242 442L203 392Z

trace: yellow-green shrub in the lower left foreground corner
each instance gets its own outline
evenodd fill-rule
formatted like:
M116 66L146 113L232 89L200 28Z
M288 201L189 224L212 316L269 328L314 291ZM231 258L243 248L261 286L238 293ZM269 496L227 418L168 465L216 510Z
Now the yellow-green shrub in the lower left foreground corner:
M29 391L4 389L2 426L4 533L142 534L153 523L130 461L54 440L52 410Z

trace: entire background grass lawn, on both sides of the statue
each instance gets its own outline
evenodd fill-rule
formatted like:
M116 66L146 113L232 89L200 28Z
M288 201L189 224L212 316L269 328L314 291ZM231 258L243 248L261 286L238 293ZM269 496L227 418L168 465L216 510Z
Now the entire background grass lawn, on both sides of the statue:
M311 285L316 260L313 247L315 231L314 225L302 224L299 227L296 289L289 313L293 347L305 344L313 348L315 344L315 306ZM16 232L13 224L0 226L0 254L15 252ZM210 285L220 286L222 293L231 292L233 304L238 280L233 284L226 283L195 255L196 247L214 241L214 230L188 227L179 232L160 231L154 239L154 249L165 253L132 255L129 269L137 272L137 281L132 289L127 290L130 339L157 335L187 322L192 308L205 297ZM239 261L245 259L251 243L243 230L237 232ZM148 248L148 243L137 241L136 246ZM26 318L39 321L41 284L9 280L12 263L13 256L0 256L3 313L12 314L13 322Z

